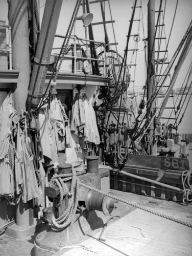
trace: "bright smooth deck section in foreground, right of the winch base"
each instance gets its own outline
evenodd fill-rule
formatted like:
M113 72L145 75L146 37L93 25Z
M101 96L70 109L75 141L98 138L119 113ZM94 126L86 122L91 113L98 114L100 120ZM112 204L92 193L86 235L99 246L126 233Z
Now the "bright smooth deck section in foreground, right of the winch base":
M139 209L109 225L103 234L106 242L97 240L99 235L81 244L89 247L92 252L73 248L60 255L95 255L98 252L103 256L189 256L192 250L191 228Z

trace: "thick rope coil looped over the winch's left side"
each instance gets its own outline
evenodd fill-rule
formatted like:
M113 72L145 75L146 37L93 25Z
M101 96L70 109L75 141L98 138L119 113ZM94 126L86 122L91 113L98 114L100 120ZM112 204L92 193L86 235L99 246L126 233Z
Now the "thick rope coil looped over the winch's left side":
M67 188L65 182L71 180L70 189ZM50 180L50 187L57 185L60 190L59 202L54 198L53 200L53 218L52 229L58 230L68 226L77 211L78 206L78 192L79 182L77 180L76 171L72 168L71 174L55 174ZM67 200L67 208L63 214L58 217L58 208L62 204L63 197Z

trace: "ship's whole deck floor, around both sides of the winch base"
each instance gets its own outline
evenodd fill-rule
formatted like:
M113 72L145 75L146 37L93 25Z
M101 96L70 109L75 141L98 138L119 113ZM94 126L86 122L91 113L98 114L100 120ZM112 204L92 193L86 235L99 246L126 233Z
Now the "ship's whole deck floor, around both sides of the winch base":
M118 197L192 225L192 205L123 191L111 190L111 192ZM102 238L106 241L98 240L103 230L103 227L100 227L78 241L77 247L61 248L55 255L191 255L190 227L124 203L119 203L117 210L113 210L111 216L119 216L119 218L109 221L105 228ZM106 220L111 216L107 216ZM35 236L25 240L14 240L3 234L0 237L0 255L33 256Z

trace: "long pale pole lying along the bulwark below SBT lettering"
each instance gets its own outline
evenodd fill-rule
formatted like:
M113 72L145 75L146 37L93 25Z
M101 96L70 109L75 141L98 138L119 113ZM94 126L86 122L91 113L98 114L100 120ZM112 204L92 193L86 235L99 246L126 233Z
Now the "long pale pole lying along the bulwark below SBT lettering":
M170 188L170 189L178 191L180 193L184 193L184 190L179 188L179 187L174 187L174 186L167 185L167 184L164 184L164 183L152 180L152 179L148 179L148 178L145 178L145 177L140 177L140 176L137 176L137 175L134 175L134 174L130 174L130 173L124 172L124 170L114 170L114 169L110 169L110 170L112 172L115 172L115 173L118 173L118 174L124 174L126 176L129 176L129 177L132 177L132 178L135 178L135 179L151 182L153 184L156 184L156 185L159 185L159 186L162 186L162 187L166 187L166 188Z

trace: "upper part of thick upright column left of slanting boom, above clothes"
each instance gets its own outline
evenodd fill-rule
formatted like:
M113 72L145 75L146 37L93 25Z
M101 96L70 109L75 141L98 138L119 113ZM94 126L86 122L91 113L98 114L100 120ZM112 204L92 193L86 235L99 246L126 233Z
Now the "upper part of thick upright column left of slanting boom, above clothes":
M17 114L26 109L30 81L30 54L28 28L28 1L8 0L9 25L11 26L12 66L19 71L17 88L14 92L14 106Z

